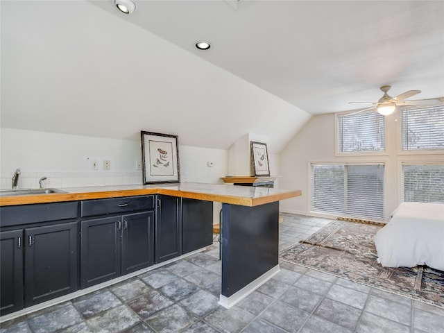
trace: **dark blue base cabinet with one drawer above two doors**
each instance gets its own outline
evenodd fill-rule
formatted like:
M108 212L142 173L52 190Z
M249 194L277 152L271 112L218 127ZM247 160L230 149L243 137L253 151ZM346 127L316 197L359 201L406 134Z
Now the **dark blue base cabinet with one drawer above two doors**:
M80 206L82 289L154 263L154 196L87 200Z

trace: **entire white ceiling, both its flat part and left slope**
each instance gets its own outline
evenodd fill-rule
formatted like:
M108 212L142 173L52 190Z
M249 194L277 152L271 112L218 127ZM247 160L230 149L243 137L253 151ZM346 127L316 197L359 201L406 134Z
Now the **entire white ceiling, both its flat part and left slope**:
M311 114L444 95L443 1L0 1L1 126L278 153ZM194 49L210 40L207 53Z

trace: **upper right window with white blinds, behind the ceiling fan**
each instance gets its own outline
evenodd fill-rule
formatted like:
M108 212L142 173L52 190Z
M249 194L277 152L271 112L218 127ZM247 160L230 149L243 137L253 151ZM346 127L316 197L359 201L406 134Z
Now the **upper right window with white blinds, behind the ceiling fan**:
M401 142L403 151L444 149L444 106L402 110Z

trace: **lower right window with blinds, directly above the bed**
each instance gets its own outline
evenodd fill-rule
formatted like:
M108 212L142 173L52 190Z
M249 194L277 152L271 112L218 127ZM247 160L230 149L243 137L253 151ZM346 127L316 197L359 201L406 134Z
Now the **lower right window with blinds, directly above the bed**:
M444 164L402 164L404 201L444 203Z

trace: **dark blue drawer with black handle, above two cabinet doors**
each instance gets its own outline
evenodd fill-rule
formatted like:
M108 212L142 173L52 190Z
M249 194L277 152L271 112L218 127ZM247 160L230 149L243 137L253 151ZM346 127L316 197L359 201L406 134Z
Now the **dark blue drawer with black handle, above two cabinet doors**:
M153 209L154 196L126 196L123 198L85 200L80 202L81 217Z

